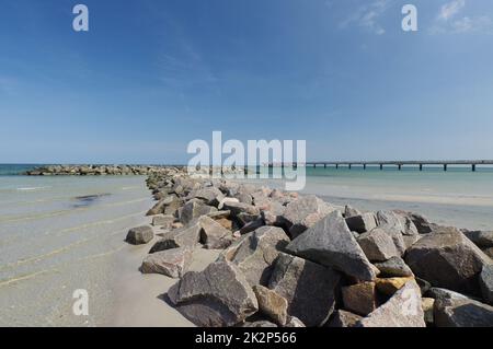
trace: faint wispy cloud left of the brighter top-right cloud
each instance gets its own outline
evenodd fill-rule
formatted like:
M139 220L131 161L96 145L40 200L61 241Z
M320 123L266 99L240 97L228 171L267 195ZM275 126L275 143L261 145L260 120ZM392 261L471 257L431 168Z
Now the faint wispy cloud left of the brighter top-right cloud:
M390 0L376 0L369 4L362 5L354 13L340 23L341 28L346 28L356 24L371 33L382 35L386 30L380 25L379 20L387 11Z

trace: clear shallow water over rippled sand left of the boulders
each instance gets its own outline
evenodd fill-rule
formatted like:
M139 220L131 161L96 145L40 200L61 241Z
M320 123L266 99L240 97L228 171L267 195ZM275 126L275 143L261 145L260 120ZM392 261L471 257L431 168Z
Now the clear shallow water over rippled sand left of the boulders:
M0 326L106 322L114 256L151 205L140 176L0 176ZM78 289L89 316L72 312Z

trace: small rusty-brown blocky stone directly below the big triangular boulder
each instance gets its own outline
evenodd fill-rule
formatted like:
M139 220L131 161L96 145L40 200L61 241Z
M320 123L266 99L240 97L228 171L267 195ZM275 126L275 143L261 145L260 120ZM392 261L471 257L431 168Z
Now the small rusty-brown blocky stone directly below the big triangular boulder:
M375 282L360 282L342 288L344 309L366 316L377 309Z

